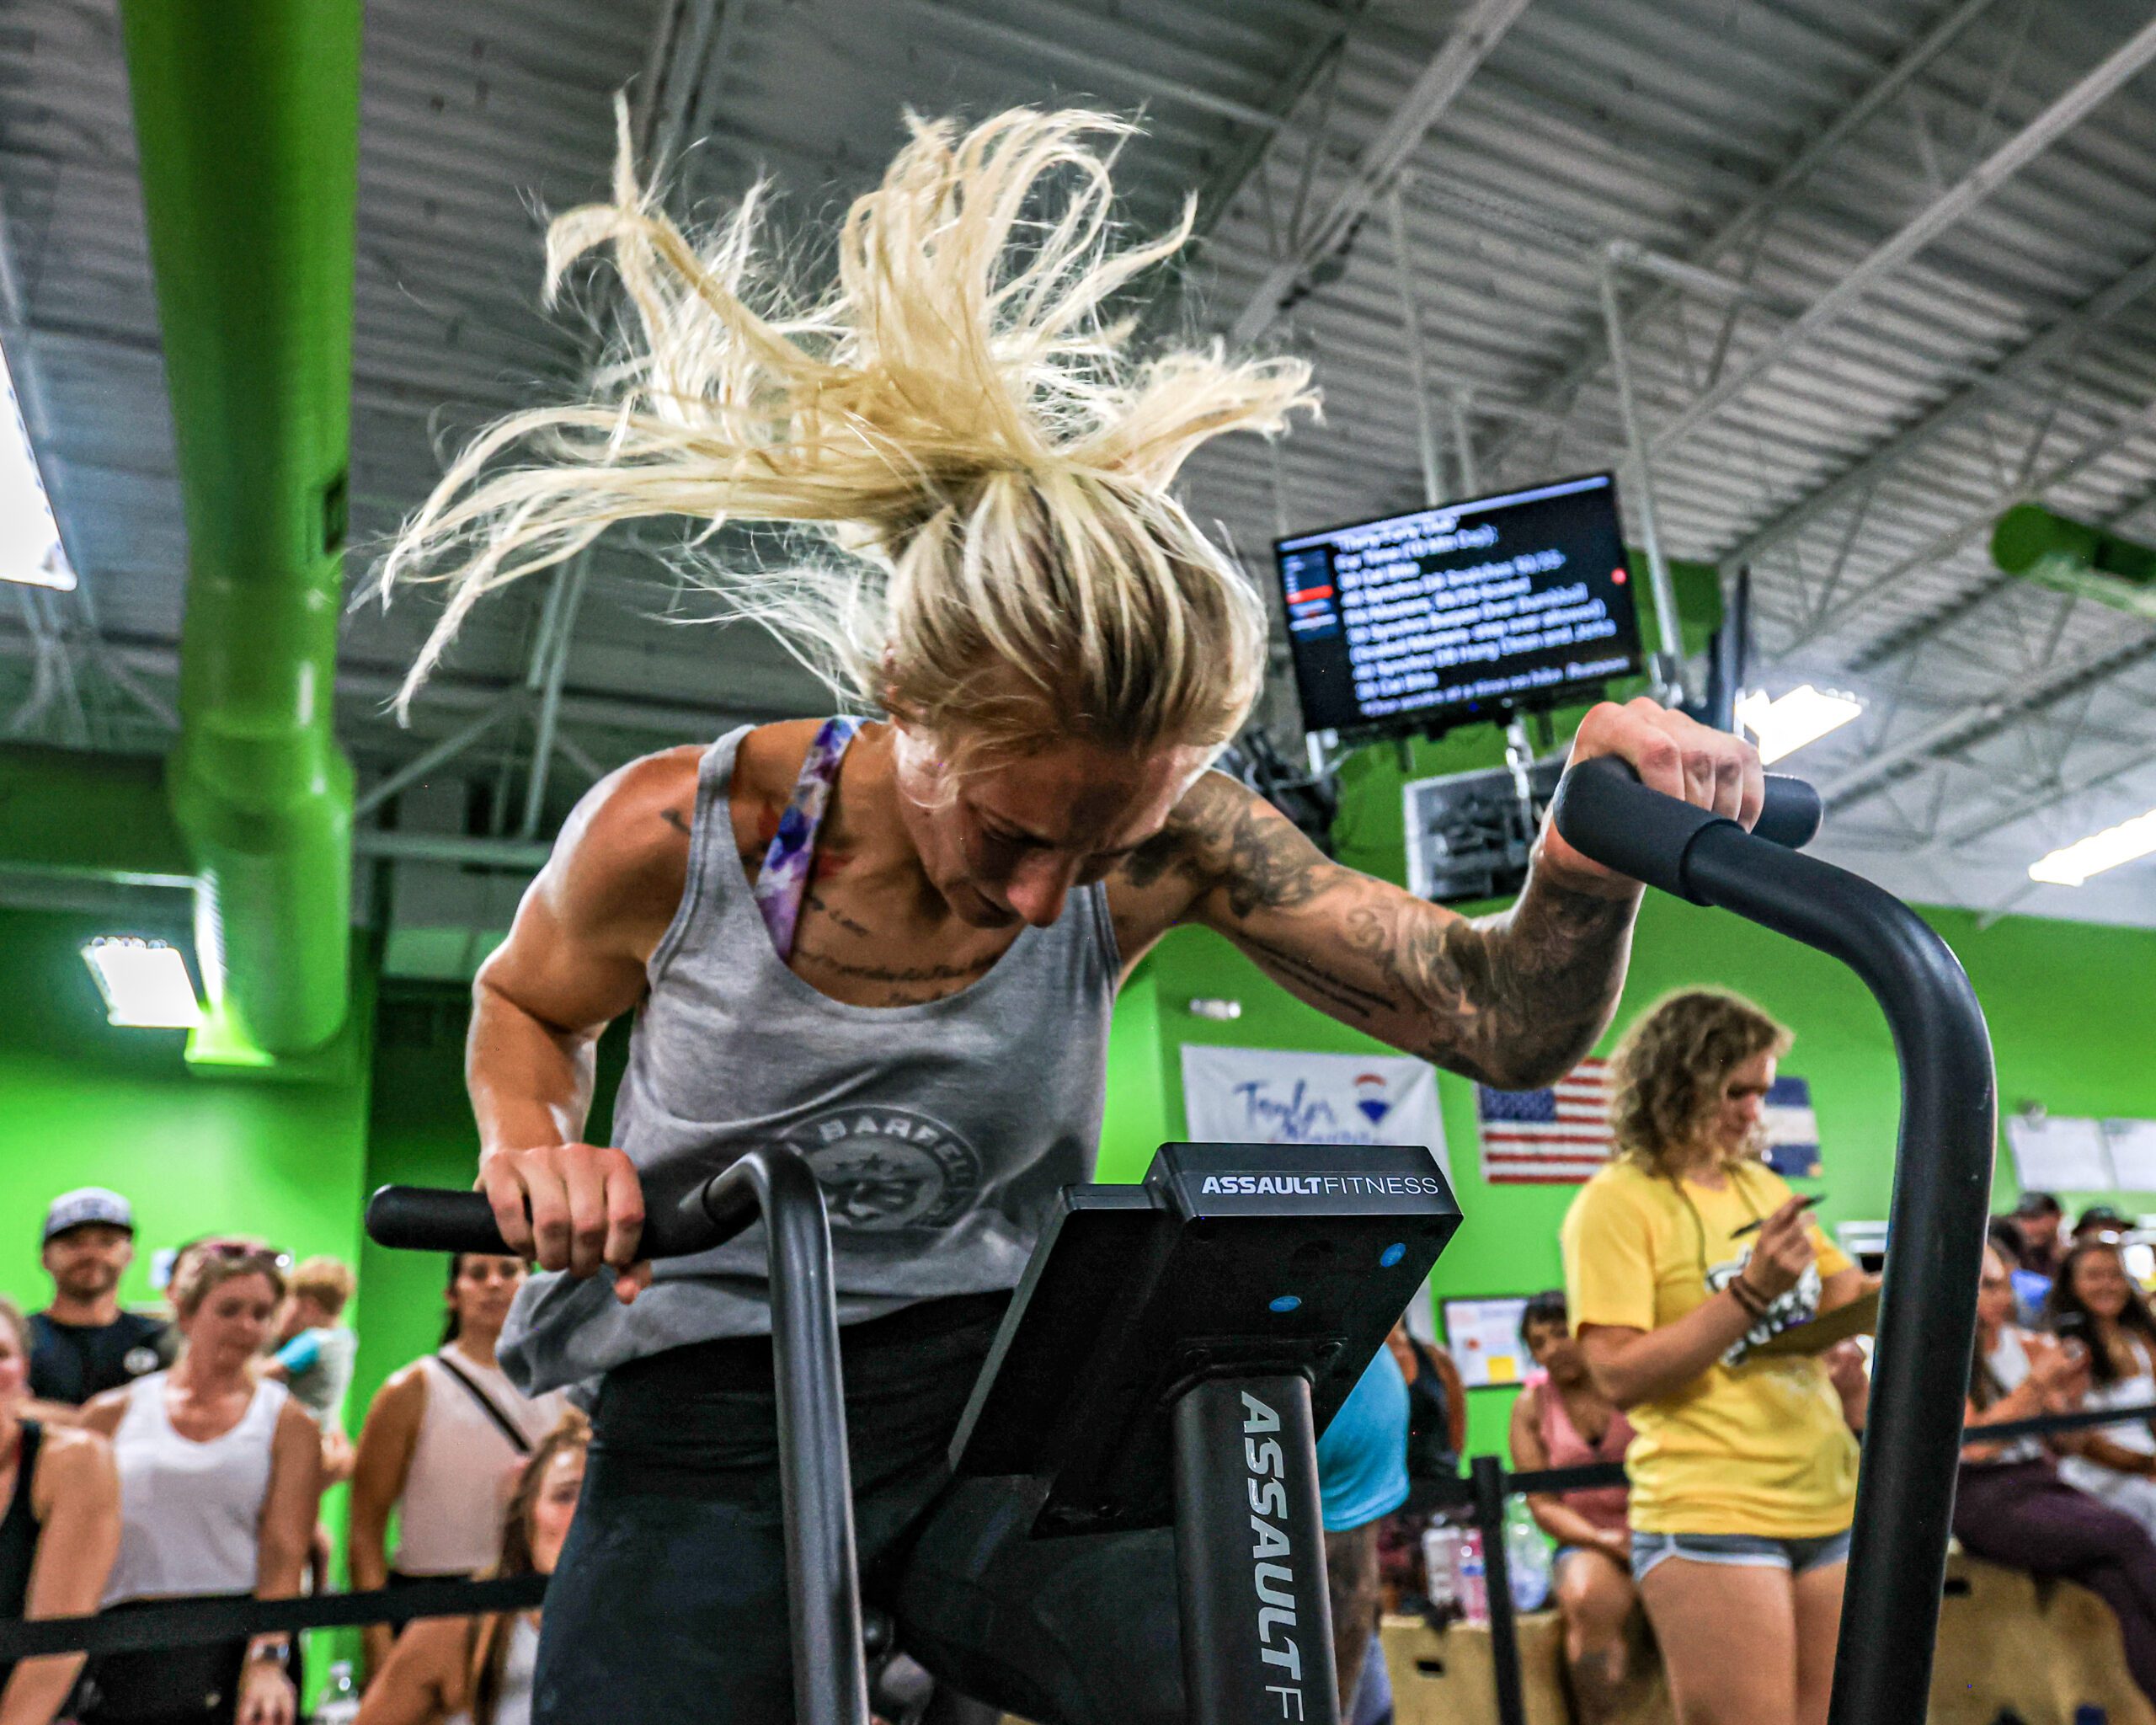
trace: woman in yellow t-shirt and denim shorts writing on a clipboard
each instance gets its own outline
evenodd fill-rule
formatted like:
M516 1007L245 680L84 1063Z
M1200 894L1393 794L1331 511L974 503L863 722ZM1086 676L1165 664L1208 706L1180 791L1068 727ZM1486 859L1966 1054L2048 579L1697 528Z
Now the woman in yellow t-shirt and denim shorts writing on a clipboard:
M1865 1292L1759 1158L1789 1033L1731 994L1658 1003L1613 1059L1617 1160L1565 1214L1580 1352L1639 1436L1632 1576L1680 1725L1820 1725L1865 1380L1751 1358Z

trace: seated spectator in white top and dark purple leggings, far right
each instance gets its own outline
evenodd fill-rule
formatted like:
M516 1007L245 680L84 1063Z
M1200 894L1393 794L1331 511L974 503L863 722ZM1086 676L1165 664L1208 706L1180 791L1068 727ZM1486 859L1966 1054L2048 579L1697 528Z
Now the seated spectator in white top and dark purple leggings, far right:
M2072 1412L2087 1382L2089 1356L2074 1341L2014 1324L2007 1261L1986 1248L1966 1423ZM1953 1537L1973 1557L2098 1593L2119 1619L2134 1684L2156 1701L2156 1544L2132 1516L2065 1484L2040 1438L1962 1449Z

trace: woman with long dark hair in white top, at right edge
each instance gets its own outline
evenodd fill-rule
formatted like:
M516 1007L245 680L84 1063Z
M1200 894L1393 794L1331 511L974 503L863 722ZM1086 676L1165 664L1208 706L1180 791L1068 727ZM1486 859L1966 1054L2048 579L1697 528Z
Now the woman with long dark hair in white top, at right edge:
M2089 1350L2087 1408L2147 1408L2156 1404L2156 1315L2126 1274L2111 1240L2091 1240L2065 1255L2050 1289L2050 1328ZM2096 1432L2061 1438L2070 1453L2059 1475L2124 1509L2156 1531L2156 1432L2147 1419L2128 1419Z

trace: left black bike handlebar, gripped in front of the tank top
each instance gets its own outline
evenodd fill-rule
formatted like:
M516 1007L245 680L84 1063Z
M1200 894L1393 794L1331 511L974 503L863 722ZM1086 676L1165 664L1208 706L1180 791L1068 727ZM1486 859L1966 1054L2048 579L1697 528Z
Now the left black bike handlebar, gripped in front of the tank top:
M705 1253L759 1216L772 1289L793 1710L802 1725L865 1725L869 1678L824 1190L798 1151L752 1149L677 1201L653 1205L638 1251L642 1257ZM367 1236L407 1251L511 1255L479 1192L384 1186L367 1203Z

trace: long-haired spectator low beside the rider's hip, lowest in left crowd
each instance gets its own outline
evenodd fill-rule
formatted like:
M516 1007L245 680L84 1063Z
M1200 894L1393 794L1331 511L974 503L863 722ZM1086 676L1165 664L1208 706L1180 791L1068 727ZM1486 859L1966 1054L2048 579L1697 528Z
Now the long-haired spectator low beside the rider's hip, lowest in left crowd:
M539 1440L517 1473L492 1574L554 1574L589 1445L591 1427L576 1410ZM537 1654L537 1611L425 1617L397 1637L356 1725L530 1725Z

